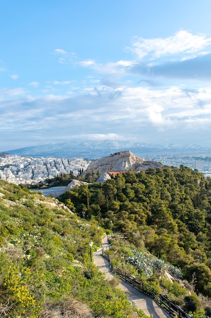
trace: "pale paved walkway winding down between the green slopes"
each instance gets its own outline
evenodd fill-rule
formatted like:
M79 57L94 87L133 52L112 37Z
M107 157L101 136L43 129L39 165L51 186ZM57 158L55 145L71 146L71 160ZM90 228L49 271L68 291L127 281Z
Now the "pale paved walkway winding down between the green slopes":
M104 249L108 246L107 236L102 239L102 245ZM102 248L98 249L93 253L94 264L99 267L101 272L105 273L107 279L112 279L113 274L109 271L109 263L102 257ZM126 283L125 281L120 281L118 287L128 295L128 300L135 304L139 309L142 309L144 313L148 316L153 314L153 318L171 318L169 314L166 313L161 307L159 307L152 298L139 292L134 287Z

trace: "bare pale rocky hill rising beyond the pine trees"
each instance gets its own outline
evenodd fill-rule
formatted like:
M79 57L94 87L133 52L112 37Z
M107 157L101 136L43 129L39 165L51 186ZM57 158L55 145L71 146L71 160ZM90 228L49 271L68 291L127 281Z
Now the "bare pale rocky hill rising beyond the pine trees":
M133 154L130 150L116 152L109 156L91 162L84 174L107 171L134 171L147 170L149 168L161 168L162 166L154 161L147 161Z

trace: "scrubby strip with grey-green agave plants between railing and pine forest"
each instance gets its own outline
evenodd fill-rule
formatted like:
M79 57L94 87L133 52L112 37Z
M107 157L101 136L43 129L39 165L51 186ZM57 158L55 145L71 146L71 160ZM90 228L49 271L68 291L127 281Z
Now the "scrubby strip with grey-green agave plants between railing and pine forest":
M113 266L129 276L136 277L145 284L148 290L153 288L159 294L167 295L175 303L179 302L180 305L182 301L181 307L187 309L184 302L185 296L192 293L193 289L187 281L183 280L179 268L148 252L139 251L134 244L123 238L112 239L112 246L108 253ZM199 300L198 302L200 303Z

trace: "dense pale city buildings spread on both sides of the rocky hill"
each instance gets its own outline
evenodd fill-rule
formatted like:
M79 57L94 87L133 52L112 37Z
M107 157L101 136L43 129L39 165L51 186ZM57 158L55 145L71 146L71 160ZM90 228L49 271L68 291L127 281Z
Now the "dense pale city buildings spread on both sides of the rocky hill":
M154 155L145 156L145 160L160 162L166 166L180 167L184 165L197 169L205 177L211 177L211 160L206 156ZM89 163L83 158L35 158L6 155L0 157L0 179L15 184L36 184L47 178L69 174L71 171L77 176L80 169L85 170Z

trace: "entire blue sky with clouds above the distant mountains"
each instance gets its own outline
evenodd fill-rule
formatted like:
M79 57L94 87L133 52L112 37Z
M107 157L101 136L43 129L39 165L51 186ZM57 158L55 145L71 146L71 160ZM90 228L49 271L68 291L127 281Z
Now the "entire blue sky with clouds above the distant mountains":
M0 151L211 146L210 0L0 4Z

